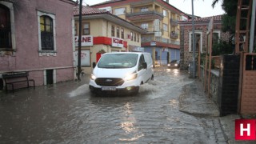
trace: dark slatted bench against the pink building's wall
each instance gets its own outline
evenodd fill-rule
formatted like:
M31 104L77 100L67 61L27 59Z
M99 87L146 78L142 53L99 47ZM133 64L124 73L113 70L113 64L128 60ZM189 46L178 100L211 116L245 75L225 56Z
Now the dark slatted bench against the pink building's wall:
M2 78L6 83L6 92L8 93L8 85L11 86L12 91L14 93L14 84L26 82L26 87L34 87L34 79L28 78L28 72L10 72L6 74L2 74ZM33 82L33 86L30 86L30 82Z

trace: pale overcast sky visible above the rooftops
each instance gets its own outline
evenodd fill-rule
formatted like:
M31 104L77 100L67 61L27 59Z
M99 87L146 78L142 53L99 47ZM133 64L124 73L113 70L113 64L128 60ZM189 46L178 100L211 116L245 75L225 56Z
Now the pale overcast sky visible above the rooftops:
M94 5L100 2L106 2L106 0L82 0L83 3L88 5ZM169 0L170 5L175 6L178 10L182 10L184 13L192 14L192 1L191 0ZM211 7L213 0L194 0L194 15L200 17L210 17L213 15L224 14L221 3L218 2L214 9Z

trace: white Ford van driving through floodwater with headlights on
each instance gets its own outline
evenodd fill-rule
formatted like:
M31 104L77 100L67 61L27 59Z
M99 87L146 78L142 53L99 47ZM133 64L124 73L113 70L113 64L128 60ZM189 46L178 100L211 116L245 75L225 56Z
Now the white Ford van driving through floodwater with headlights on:
M137 94L140 85L153 79L150 53L106 53L97 65L94 62L89 87L92 93L102 91Z

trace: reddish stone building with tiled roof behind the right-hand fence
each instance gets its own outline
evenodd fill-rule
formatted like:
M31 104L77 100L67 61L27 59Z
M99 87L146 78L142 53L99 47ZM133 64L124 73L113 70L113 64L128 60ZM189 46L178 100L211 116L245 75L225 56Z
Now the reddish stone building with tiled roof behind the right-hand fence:
M218 42L220 39L228 41L230 34L222 32L222 15L217 15L207 18L195 18L194 19L194 36L195 36L195 58L198 58L199 51L201 54L206 53L207 41L208 41L208 26L210 19L214 21L213 37L214 42ZM180 69L188 70L189 63L193 60L193 46L192 46L192 20L180 21L181 31L181 61ZM197 59L196 59L197 60Z

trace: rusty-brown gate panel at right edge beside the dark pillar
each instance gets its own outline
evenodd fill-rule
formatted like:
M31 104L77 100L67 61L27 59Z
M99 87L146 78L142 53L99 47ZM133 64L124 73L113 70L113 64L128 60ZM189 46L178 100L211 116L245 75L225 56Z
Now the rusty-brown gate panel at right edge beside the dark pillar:
M256 54L243 54L241 114L256 114Z

